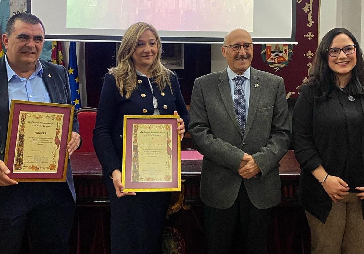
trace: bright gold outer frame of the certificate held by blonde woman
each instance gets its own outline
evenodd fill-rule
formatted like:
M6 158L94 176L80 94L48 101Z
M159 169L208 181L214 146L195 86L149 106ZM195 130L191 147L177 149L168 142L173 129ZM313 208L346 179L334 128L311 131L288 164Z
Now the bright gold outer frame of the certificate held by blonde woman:
M132 118L175 118L176 120L179 118L178 115L148 115L148 116L141 116L141 115L124 115L124 128L123 128L123 166L122 166L122 179L121 182L125 187L125 161L126 161L126 140L127 140L127 119ZM177 127L179 123L177 123ZM177 134L177 151L178 151L178 161L181 161L181 136ZM149 192L149 191L181 191L181 163L178 164L178 187L177 188L124 188L124 191L127 192Z

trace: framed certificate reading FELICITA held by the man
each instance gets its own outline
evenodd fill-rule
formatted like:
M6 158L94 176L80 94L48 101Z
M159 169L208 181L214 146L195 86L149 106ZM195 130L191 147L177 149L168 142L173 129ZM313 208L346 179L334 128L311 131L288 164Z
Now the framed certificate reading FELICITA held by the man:
M4 163L18 182L66 181L74 106L12 100Z

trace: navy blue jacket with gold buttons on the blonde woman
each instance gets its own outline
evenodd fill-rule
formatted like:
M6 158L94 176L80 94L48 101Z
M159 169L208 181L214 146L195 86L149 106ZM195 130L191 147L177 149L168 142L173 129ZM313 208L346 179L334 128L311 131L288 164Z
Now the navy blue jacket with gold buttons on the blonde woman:
M126 99L120 95L114 76L106 74L104 77L93 131L95 152L104 176L110 175L115 168L122 166L124 115L153 115L154 113L153 95L148 78L137 76L137 80L141 81L137 83L137 88L131 97ZM189 116L177 75L175 73L171 75L173 94L169 86L166 85L165 89L160 91L157 84L153 83L153 78L150 81L161 115L172 115L177 110L187 131Z

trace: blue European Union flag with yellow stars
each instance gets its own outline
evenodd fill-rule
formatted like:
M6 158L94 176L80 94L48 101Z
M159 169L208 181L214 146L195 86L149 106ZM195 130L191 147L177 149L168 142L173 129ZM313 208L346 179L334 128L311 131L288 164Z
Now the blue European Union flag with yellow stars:
M75 109L81 107L80 83L78 82L78 68L76 55L76 42L70 42L70 55L68 57L68 79L71 87L71 103Z

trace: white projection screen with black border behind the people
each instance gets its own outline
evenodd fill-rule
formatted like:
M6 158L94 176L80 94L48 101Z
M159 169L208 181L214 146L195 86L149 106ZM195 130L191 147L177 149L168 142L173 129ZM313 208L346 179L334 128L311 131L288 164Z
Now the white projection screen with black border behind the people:
M163 43L221 43L244 28L254 43L294 43L296 0L27 0L47 40L118 42L130 24L145 21Z

